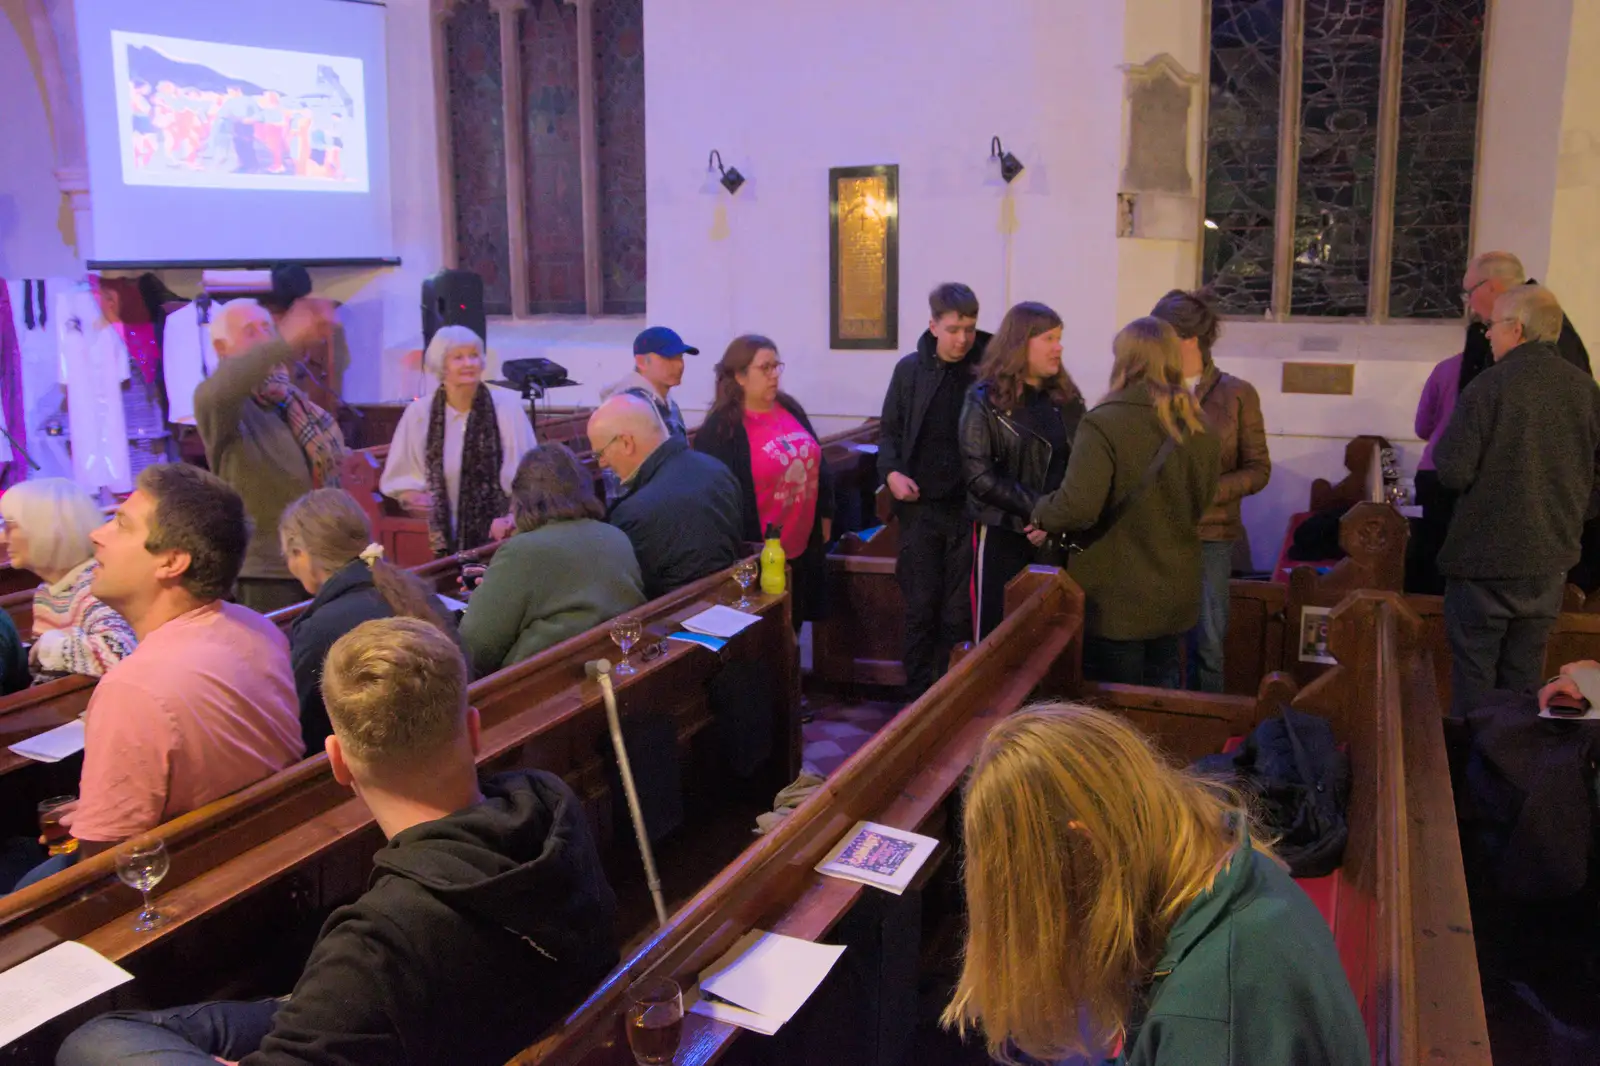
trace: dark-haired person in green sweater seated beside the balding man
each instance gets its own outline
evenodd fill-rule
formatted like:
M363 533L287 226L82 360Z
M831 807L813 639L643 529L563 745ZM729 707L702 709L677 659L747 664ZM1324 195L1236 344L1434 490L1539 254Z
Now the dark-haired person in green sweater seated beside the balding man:
M632 541L605 523L592 479L565 445L522 456L510 514L517 531L494 552L461 619L477 677L645 602Z

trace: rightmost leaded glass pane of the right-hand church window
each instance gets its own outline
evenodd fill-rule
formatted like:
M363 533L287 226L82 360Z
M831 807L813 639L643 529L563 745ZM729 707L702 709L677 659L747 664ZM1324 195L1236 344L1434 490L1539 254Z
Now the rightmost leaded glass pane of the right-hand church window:
M1406 0L1389 314L1461 315L1485 0Z

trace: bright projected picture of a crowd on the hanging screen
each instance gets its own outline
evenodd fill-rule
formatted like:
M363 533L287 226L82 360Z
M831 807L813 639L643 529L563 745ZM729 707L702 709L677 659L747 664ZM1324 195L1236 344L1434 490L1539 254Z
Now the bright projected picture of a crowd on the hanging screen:
M130 186L366 192L362 61L112 30Z

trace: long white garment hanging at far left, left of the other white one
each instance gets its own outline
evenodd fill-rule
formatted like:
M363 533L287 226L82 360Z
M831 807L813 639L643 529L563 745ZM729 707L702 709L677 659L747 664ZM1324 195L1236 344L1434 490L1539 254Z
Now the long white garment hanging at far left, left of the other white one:
M128 464L128 427L122 413L122 383L128 379L128 346L101 317L99 298L88 288L59 293L51 314L61 343L61 384L67 391L67 429L72 434L72 479L90 493L104 485L133 491Z

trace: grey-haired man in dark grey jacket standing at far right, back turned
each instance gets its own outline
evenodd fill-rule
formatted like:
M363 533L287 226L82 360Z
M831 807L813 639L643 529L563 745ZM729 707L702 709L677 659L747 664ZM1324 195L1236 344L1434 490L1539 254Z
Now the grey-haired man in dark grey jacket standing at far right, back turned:
M1584 520L1600 511L1600 386L1557 352L1563 319L1541 285L1502 293L1494 363L1434 445L1440 485L1459 495L1438 552L1456 715L1493 688L1539 687Z

